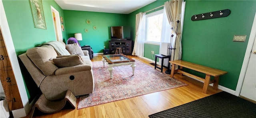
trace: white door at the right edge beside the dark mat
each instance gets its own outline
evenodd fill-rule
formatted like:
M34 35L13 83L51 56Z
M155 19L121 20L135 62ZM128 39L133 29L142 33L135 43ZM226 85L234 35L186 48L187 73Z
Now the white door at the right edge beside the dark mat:
M256 101L256 36L254 36L254 44L244 76L240 96Z

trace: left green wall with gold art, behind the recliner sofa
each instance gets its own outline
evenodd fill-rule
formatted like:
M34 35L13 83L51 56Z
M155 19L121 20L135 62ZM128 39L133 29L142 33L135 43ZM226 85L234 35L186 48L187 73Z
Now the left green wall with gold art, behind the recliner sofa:
M51 6L58 10L60 16L63 16L63 11L54 0L42 0L47 29L34 28L29 0L2 0L2 2L17 56L38 44L56 40ZM62 32L62 36L66 39L65 32ZM19 63L28 99L31 102L40 90L22 62L19 61Z

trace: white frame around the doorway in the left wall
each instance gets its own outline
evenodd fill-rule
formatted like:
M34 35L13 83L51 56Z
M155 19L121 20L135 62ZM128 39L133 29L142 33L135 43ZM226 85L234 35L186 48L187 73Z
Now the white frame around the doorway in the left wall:
M52 7L52 6L51 6L51 10L52 10L52 12L54 12L55 21L56 21L56 27L57 27L56 29L57 29L57 31L56 31L55 28L54 28L55 34L56 34L56 35L58 34L58 39L57 39L57 37L56 37L56 40L63 42L62 30L61 30L61 26L60 26L60 24L61 24L61 23L60 23L60 14L59 14L59 12L58 12L54 7ZM52 21L53 21L53 26L55 27L53 14L52 14Z

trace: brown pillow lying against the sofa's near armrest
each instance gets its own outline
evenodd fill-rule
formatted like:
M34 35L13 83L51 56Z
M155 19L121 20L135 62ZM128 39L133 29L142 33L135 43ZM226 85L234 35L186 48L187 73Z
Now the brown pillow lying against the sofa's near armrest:
M54 58L53 62L60 68L85 64L79 55Z

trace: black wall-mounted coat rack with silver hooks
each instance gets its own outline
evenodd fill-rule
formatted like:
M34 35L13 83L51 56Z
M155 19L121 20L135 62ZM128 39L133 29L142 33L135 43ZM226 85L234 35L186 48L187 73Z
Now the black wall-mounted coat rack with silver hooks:
M208 12L208 13L193 15L191 17L191 20L196 21L196 20L205 20L205 19L212 19L212 18L221 18L221 17L226 17L229 14L230 14L229 9L219 10L215 12Z

